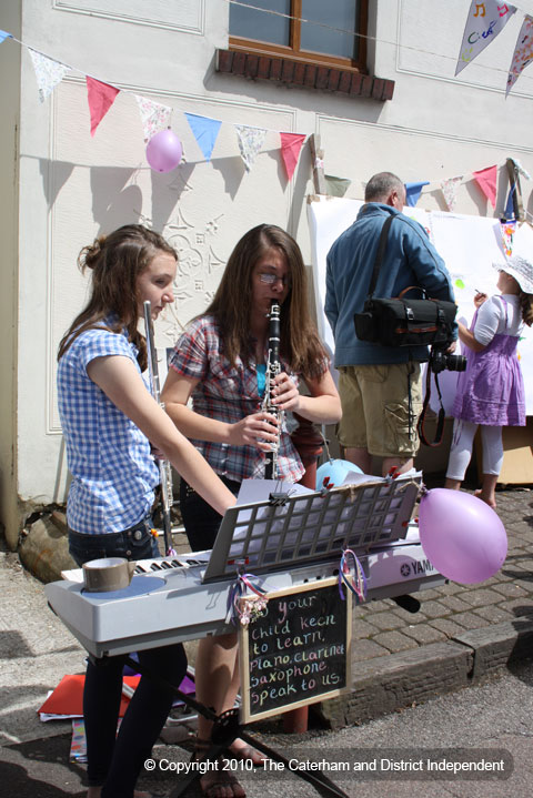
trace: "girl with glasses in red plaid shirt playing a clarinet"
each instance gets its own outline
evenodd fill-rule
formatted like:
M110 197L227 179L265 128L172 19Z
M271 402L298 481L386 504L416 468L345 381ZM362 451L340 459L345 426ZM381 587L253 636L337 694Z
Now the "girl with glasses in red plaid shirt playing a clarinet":
M280 367L264 396L269 316L281 305ZM299 392L302 380L309 395ZM329 358L311 319L305 266L294 239L281 228L250 230L230 255L213 301L179 339L162 392L177 426L203 454L234 494L245 478L263 477L276 446L276 477L298 482L304 472L284 414L296 412L319 424L339 421L341 404ZM188 406L192 400L192 407ZM265 401L266 400L266 401ZM180 505L192 550L212 548L220 516L193 485L181 482ZM197 660L197 694L217 714L231 709L239 688L237 638L204 638ZM211 725L199 720L198 755L209 746ZM261 764L242 740L232 755ZM241 798L227 771L207 774L209 798Z

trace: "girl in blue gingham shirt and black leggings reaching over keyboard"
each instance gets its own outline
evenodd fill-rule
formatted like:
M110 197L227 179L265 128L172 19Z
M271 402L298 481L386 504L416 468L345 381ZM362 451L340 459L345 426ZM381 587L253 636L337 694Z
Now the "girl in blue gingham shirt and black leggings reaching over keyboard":
M235 503L141 376L147 365L145 341L138 332L143 302L151 302L155 317L173 301L177 254L161 235L132 224L86 246L79 265L91 271L91 296L58 355L59 412L72 473L70 552L79 565L110 556L151 558L159 556L151 507L160 478L151 445L183 474L215 517ZM174 686L185 673L181 644L139 651L139 659ZM105 665L87 666L88 798L133 798L141 767L172 705L172 691L143 676L117 736L122 665L120 657L109 657Z

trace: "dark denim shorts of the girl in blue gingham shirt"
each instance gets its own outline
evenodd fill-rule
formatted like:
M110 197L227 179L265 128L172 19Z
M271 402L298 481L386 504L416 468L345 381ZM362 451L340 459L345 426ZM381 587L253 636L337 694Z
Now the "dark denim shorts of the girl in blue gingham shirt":
M122 532L103 535L84 535L69 528L69 552L79 566L101 557L152 559L160 557L158 542L151 533L152 518L147 515L134 526Z

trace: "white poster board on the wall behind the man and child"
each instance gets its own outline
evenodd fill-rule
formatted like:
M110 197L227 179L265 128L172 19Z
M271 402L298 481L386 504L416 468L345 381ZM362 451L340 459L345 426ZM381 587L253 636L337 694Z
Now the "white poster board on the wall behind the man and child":
M362 204L360 200L336 196L319 196L308 204L319 332L331 353L334 352L333 334L324 314L325 259L335 239L355 221ZM500 221L408 206L403 212L425 228L444 259L459 305L457 320L469 326L474 314L475 292L483 291L489 295L499 293L497 272L491 264L504 261ZM521 239L521 248L527 248L531 240L529 259L533 260L533 231L526 228L523 232L525 235ZM525 327L524 337L519 343L519 357L524 375L526 412L533 415L533 330L529 327ZM446 412L453 403L456 377L456 372L449 371L439 375ZM438 406L435 391L432 391L432 406Z

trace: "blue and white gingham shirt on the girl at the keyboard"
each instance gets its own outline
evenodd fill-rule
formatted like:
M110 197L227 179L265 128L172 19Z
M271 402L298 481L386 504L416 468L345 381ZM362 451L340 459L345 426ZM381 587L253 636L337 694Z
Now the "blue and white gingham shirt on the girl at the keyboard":
M76 532L121 532L141 521L153 503L159 469L145 435L87 374L95 357L122 355L135 364L125 334L88 330L58 365L58 403L72 483L67 521Z

